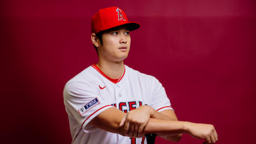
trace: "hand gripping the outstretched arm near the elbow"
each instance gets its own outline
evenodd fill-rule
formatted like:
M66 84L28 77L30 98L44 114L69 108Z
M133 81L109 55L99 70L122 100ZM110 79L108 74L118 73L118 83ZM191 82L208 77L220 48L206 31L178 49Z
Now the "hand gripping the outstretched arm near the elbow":
M149 118L152 115L153 108L150 106L139 106L138 109L129 111L120 122L119 126L124 126L124 133L129 137L144 137L142 132L145 126L149 122Z

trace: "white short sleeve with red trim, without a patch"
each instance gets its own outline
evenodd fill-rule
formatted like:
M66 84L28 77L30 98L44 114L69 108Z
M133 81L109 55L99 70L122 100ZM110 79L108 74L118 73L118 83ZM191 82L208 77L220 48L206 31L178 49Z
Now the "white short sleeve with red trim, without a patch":
M170 102L169 98L167 97L165 89L162 86L162 84L159 82L159 80L157 80L154 77L151 84L152 84L151 89L153 89L153 91L151 92L152 95L151 95L150 106L159 112L167 110L167 109L174 110L171 107L171 102Z

